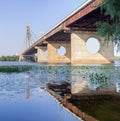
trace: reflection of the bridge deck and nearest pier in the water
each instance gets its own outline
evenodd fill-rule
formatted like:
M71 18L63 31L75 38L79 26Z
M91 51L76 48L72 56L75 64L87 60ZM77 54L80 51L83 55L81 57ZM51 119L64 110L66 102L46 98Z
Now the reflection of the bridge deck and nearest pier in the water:
M68 108L70 111L72 111L85 121L101 120L99 119L99 117L103 117L104 119L104 112L106 112L106 117L108 118L107 121L109 121L109 114L112 115L113 120L114 116L117 116L119 119L120 110L118 108L118 105L120 100L120 93L116 93L116 88L117 91L120 91L118 90L120 89L120 84L116 84L116 82L112 82L111 80L109 80L110 78L107 78L108 76L113 76L111 74L111 70L108 69L106 71L103 70L103 68L100 68L101 70L96 70L96 68L94 69L93 67L92 70L89 67L87 67L87 69L83 68L84 67L82 67L82 69L80 70L80 68L69 67L68 69L71 80L71 94L66 94L63 91L67 88L67 86L64 86L62 84L57 85L55 83L52 83L51 85L48 85L50 90L46 90L57 100L59 100L60 103L63 104L63 106ZM79 72L77 69L79 69ZM62 76L65 76L65 68L62 70ZM68 70L66 71L68 72ZM57 77L57 71L55 72ZM94 80L90 81L89 79L85 78L85 74L90 79L92 79L93 77ZM111 82L113 85L110 85ZM92 89L92 87L94 88ZM60 89L61 91L63 91L63 95L58 93L58 90ZM98 117L95 117L96 119L94 118L94 113L98 115Z

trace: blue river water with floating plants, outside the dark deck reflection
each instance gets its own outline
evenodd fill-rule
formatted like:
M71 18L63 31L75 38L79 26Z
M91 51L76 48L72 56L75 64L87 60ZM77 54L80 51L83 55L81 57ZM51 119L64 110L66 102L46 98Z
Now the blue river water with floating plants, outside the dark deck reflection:
M43 88L69 83L71 93L109 89L119 93L119 66L120 62L74 66L0 62L0 121L81 121Z

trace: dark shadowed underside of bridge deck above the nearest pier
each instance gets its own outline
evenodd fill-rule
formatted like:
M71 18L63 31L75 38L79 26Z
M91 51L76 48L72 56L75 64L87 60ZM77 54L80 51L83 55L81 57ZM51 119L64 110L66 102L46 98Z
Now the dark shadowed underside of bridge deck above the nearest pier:
M94 7L94 6L91 6ZM80 14L80 13L79 13ZM68 27L71 30L77 30L77 31L97 31L97 23L99 22L108 22L110 24L113 23L112 20L110 20L110 16L104 15L104 11L101 12L100 7L93 10L89 14L85 15L81 19L78 18L78 20L74 21L76 17L73 17L71 20L66 22L68 24Z

